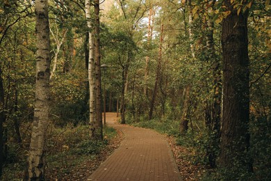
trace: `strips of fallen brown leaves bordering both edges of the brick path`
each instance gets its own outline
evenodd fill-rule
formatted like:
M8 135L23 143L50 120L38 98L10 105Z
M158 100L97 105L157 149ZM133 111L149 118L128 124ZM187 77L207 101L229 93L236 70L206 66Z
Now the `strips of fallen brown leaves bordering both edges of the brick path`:
M108 116L112 115L107 113L106 118ZM201 175L204 173L204 168L202 166L195 165L192 163L192 161L190 161L191 155L194 155L195 152L191 152L191 150L188 150L181 145L176 145L176 138L172 136L164 136L165 139L167 139L170 148L172 148L174 158L176 159L176 164L183 180L199 180ZM106 149L103 149L96 157L85 159L80 164L74 166L72 171L62 175L61 180L86 180L100 166L100 164L120 146L123 139L124 134L117 130L117 136L109 140ZM57 173L57 170L49 170L47 171L47 177L49 177L49 180L56 180Z

